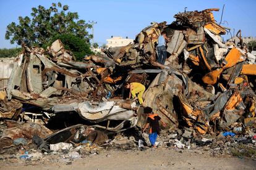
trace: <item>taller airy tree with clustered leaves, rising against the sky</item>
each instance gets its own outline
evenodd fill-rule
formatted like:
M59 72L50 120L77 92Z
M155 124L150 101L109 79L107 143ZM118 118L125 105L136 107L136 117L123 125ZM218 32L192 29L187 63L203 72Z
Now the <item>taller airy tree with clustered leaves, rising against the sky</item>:
M79 20L77 12L67 12L69 6L62 6L58 2L52 4L49 9L43 6L33 7L31 18L19 17L19 24L14 22L7 26L6 39L10 39L11 44L25 42L28 46L43 46L52 38L59 34L74 34L90 43L92 34L88 34L87 29L92 25L85 20Z

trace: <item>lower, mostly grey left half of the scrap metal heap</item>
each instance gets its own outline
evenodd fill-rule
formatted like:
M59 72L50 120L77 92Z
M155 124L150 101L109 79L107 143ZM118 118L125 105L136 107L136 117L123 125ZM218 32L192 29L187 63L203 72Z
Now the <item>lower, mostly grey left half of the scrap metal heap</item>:
M116 79L109 76L111 59L90 56L107 68L93 62L75 62L74 55L59 40L47 52L38 47L23 46L23 49L15 59L6 92L1 92L1 118L35 121L35 117L43 117L40 122L47 124L54 113L77 111L81 118L92 123L106 122L104 128L110 131L136 125L132 101L106 99L114 91L114 83L121 80L120 76ZM108 84L103 87L105 82ZM128 109L121 107L126 104ZM27 111L32 106L37 110Z

